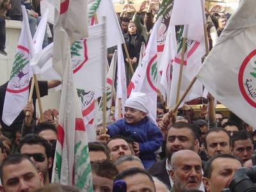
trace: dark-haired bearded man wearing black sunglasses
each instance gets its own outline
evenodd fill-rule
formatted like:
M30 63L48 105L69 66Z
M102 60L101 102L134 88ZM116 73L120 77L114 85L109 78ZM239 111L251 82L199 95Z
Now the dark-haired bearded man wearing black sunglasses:
M44 185L49 184L49 168L52 166L51 145L37 134L27 134L20 140L19 152L30 157L38 172L44 175Z

